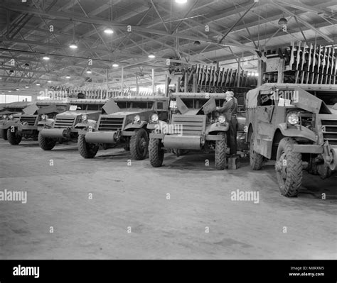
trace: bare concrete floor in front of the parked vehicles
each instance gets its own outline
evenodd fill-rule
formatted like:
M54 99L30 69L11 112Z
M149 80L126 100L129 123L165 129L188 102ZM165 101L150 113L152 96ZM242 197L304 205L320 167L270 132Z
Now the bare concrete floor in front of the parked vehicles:
M337 258L337 174L304 174L288 199L272 163L217 171L213 155L167 154L161 168L129 166L121 148L85 160L75 143L44 152L32 140L0 140L0 157L0 190L28 192L27 204L0 201L0 259ZM231 201L236 189L260 203Z

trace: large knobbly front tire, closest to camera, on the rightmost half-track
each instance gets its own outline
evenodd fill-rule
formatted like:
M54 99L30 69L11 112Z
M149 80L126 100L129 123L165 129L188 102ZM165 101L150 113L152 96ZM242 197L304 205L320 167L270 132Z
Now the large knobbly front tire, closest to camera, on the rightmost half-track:
M303 177L303 165L301 153L294 152L293 146L296 141L292 138L282 138L279 142L279 147L277 148L277 162L282 155L285 153L287 159L287 177L285 181L279 171L275 171L277 174L277 182L279 183L279 190L284 196L297 196L299 194L299 188L301 187L302 177Z

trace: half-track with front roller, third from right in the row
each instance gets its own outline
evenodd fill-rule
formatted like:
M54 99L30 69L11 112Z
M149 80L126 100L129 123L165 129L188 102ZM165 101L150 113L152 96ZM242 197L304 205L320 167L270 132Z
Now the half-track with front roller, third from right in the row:
M97 125L81 131L77 146L84 158L93 158L100 148L122 145L134 160L148 153L153 121L167 121L169 99L164 96L117 96L103 107Z

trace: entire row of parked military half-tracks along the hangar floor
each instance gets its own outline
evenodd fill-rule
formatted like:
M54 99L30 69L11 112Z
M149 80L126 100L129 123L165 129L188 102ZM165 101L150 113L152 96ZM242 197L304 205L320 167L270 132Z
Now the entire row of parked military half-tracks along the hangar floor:
M336 97L337 87L312 84L264 84L247 92L237 112L238 150L249 152L252 170L276 160L284 196L298 194L303 170L323 178L336 171ZM149 155L153 167L161 167L166 151L214 152L215 168L224 170L229 123L215 110L224 101L225 94L205 93L40 101L4 116L0 129L12 145L33 138L43 150L77 141L84 158L122 146L134 160Z

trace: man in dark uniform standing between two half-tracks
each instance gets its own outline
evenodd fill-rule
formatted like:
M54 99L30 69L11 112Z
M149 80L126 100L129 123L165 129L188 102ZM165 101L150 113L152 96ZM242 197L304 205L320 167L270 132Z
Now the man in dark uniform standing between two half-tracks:
M233 91L226 91L226 100L223 107L217 107L216 110L225 116L226 121L230 123L230 128L227 133L228 143L230 146L230 155L235 156L237 150L237 99L234 97Z

